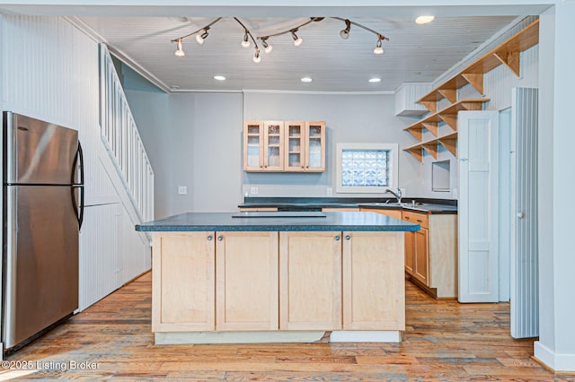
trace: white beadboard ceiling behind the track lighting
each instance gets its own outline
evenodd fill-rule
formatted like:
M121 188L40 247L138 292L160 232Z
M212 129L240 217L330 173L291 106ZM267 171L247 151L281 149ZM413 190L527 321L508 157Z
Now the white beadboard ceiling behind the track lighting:
M345 15L343 15L345 17ZM402 82L431 82L473 49L504 29L515 16L438 17L418 25L412 18L349 18L387 38L385 54L376 56L376 35L356 26L341 39L344 22L325 18L301 28L295 47L289 34L270 38L270 54L252 62L253 48L242 48L243 28L224 18L199 45L185 39L186 56L174 56L179 38L215 18L82 17L80 20L118 51L154 76L160 86L180 91L394 91ZM241 18L254 37L288 30L305 18ZM225 75L225 82L213 79ZM313 82L300 79L312 77ZM379 77L381 82L367 82Z

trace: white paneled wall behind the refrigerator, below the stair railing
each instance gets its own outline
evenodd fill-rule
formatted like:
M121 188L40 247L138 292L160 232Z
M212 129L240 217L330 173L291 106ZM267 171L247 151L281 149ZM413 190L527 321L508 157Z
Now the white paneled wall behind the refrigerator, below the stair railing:
M108 175L100 132L98 42L61 17L2 16L2 109L78 130L84 147L80 308L149 269L145 236L128 217L126 191Z

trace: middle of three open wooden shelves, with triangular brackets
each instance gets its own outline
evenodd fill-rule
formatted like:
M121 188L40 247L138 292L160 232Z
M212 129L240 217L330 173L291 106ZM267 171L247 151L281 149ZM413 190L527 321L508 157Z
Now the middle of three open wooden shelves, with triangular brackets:
M428 129L431 134L438 136L438 123L445 122L454 131L457 131L457 112L461 110L481 110L482 104L489 102L488 98L459 100L445 109L429 115L418 122L403 128L418 140L422 139L422 130Z

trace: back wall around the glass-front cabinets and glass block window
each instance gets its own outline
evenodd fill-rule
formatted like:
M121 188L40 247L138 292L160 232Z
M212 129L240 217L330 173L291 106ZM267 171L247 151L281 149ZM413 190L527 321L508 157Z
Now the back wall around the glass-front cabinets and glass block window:
M325 120L326 169L321 174L243 173L243 193L252 186L258 196L382 196L381 194L336 194L337 143L411 143L402 131L402 119L394 116L392 94L329 94L256 92L244 93L244 119ZM400 150L399 185L407 196L420 195L420 162ZM389 196L389 195L386 195Z

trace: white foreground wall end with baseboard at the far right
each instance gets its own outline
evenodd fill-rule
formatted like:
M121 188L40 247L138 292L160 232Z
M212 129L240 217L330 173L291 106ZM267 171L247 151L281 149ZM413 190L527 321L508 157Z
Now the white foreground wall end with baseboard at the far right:
M572 148L572 92L575 89L575 2L558 2L541 18L539 117L539 311L535 357L556 370L575 371L573 241L566 203L575 188Z

